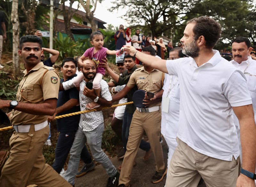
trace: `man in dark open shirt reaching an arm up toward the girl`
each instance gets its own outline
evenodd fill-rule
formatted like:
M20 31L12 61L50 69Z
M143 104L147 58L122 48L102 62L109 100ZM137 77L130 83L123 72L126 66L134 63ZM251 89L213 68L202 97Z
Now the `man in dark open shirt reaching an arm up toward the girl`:
M108 74L114 79L114 81L109 84L110 86L121 86L121 85L126 85L132 75L132 73L137 69L135 65L135 58L130 55L125 55L124 56L124 64L126 67L126 71L120 76L118 76L111 68L109 68L107 62L102 63L102 67L105 68L105 70L108 72ZM126 95L127 97L127 102L132 101L132 95L133 93L138 90L137 86L134 86ZM124 144L124 149L120 151L120 153L117 155L117 158L124 158L124 154L126 152L126 144L128 141L128 136L129 136L129 129L132 121L132 115L134 111L136 110L136 107L134 104L126 105L125 111L124 111L124 118L123 118L123 126L122 126L122 138L123 138L123 144ZM140 142L140 148L144 151L146 151L145 156L143 160L148 160L149 155L151 153L150 150L150 144L144 140L141 140ZM118 169L121 170L121 166L118 167Z

